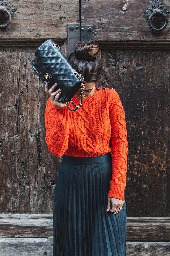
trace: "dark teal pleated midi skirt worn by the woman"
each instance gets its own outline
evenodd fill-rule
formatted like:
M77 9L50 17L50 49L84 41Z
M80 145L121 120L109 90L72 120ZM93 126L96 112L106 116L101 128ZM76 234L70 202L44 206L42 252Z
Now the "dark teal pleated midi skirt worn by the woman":
M112 157L62 156L53 208L53 256L125 256L126 202L106 211Z

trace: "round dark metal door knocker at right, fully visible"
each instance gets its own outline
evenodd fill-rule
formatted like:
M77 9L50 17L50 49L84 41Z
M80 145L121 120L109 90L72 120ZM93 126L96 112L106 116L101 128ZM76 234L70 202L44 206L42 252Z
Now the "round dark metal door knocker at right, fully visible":
M145 14L149 17L148 24L150 28L154 32L165 29L168 24L167 14L169 13L170 11L159 0L152 2L145 11Z

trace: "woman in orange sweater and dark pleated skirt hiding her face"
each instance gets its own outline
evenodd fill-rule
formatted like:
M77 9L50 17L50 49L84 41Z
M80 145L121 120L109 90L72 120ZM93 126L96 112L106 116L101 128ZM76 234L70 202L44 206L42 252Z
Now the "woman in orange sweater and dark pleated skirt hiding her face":
M70 111L49 93L48 150L62 156L55 187L53 256L125 256L128 140L125 113L113 88L99 88L102 65L94 41L78 42L69 61L84 76L82 106ZM80 89L72 98L79 104ZM71 103L70 103L71 105ZM71 106L72 108L72 106Z

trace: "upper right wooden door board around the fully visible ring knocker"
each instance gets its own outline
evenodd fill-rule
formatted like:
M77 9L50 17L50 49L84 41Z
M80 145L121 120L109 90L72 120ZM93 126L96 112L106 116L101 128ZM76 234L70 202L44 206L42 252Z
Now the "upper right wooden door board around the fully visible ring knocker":
M148 0L81 1L81 25L92 24L94 39L104 43L123 41L126 44L127 41L141 43L159 40L170 42L169 23L159 34L149 27L145 10L151 2ZM164 0L163 4L170 9L169 0Z

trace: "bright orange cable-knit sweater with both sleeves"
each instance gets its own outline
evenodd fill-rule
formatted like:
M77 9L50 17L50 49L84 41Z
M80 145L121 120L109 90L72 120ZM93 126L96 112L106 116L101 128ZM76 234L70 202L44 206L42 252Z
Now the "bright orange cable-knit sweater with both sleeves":
M72 100L79 104L75 96ZM56 157L94 157L112 152L108 197L124 201L128 137L125 112L115 89L95 89L77 111L70 111L68 106L57 107L48 98L44 117L45 141Z

